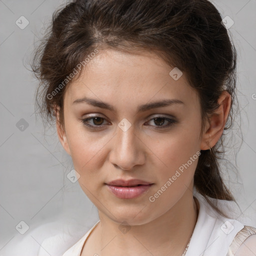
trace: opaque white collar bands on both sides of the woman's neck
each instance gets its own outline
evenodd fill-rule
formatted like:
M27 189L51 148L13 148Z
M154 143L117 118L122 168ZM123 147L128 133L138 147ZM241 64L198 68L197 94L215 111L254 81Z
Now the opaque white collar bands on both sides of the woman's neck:
M233 238L244 225L236 219L222 217L201 197L196 198L199 201L199 212L186 256L226 256ZM84 242L99 221L62 256L80 256Z

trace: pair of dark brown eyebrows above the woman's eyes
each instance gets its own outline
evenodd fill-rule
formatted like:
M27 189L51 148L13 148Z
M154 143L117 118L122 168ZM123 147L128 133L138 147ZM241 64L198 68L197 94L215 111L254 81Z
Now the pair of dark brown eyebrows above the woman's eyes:
M112 106L106 102L103 102L101 100L97 100L97 99L93 99L93 98L88 98L88 97L78 98L73 101L72 105L77 104L77 103L87 103L87 104L90 104L90 105L93 105L96 107L105 108L110 111L115 111L114 106ZM176 98L162 99L159 101L153 101L151 103L139 105L137 107L137 112L142 112L142 111L146 111L146 110L149 110L152 108L164 107L164 106L169 106L169 105L173 105L173 104L184 104L184 102L179 99L176 99Z

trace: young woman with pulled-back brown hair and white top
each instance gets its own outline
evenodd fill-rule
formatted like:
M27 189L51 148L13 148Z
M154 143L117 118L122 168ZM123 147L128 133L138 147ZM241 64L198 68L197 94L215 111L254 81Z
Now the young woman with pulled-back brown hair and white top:
M99 215L63 256L255 255L256 228L217 205L236 52L214 5L75 0L50 29L37 100Z

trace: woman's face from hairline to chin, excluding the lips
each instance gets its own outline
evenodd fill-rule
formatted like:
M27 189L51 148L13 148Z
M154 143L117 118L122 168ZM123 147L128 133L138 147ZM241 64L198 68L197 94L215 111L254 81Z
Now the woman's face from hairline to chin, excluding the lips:
M154 53L144 53L96 54L66 88L65 131L59 135L100 214L130 224L159 217L192 190L202 143L199 97L185 74L170 73L173 68ZM152 104L174 99L182 102ZM153 184L136 197L120 198L106 184L119 178Z

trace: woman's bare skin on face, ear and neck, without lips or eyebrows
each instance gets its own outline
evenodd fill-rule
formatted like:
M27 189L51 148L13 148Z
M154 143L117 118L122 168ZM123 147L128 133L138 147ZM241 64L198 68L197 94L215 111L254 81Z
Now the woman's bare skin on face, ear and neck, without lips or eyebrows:
M64 94L64 127L56 125L59 140L71 155L78 182L98 209L100 222L83 246L81 255L168 255L180 256L196 223L196 204L192 195L193 174L198 161L155 199L149 201L179 166L196 151L208 149L220 138L230 110L230 95L223 91L219 108L199 136L201 115L199 97L187 82L185 73L174 80L168 66L153 52L120 52L105 49L86 65ZM72 104L90 97L113 105L115 112L89 105ZM136 112L140 104L162 99L179 99L183 104ZM81 119L100 116L101 125L93 130ZM164 116L176 120L158 128ZM58 116L57 116L58 118ZM118 123L126 118L131 126L123 131ZM120 199L104 182L139 178L154 183L133 199ZM120 224L130 229L123 233ZM96 255L96 254L95 254Z

